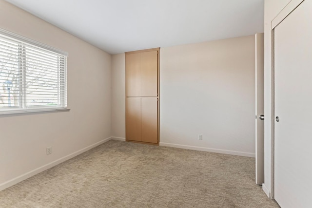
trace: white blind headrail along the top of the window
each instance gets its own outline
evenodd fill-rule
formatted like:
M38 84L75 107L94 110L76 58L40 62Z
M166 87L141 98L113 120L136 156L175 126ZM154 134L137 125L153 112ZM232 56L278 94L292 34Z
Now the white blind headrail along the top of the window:
M61 51L57 48L53 48L49 45L46 45L46 44L43 44L43 43L40 43L36 40L33 40L33 39L30 39L30 38L26 38L26 37L23 37L23 36L20 36L18 34L15 34L15 33L12 33L10 31L7 31L7 30L4 30L2 28L0 28L0 34L4 35L4 36L8 36L10 38L15 38L15 39L18 39L20 41L23 41L23 42L26 42L28 44L31 44L31 45L35 45L37 47L40 47L40 48L43 48L45 50L48 50L48 51L52 51L54 53L57 53L57 54L60 54L60 55L63 55L63 56L66 56L68 57L68 53L67 52L64 52L64 51Z

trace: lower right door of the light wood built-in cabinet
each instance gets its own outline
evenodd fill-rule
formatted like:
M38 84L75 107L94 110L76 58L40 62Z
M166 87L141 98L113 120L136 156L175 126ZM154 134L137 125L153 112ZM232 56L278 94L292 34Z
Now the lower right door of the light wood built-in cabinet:
M157 97L141 98L141 141L158 143Z

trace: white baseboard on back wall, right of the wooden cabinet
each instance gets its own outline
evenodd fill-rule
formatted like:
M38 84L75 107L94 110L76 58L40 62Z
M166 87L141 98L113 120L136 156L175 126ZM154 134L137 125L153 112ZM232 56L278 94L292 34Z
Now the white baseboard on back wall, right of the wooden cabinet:
M171 144L171 143L164 143L164 142L160 142L159 146L175 147L175 148L182 148L182 149L188 149L188 150L198 150L198 151L210 151L210 152L216 152L216 153L222 153L222 154L232 154L232 155L245 156L245 157L255 157L255 153L243 152L243 151L220 150L220 149L196 147L196 146L189 146L189 145L178 145L178 144Z

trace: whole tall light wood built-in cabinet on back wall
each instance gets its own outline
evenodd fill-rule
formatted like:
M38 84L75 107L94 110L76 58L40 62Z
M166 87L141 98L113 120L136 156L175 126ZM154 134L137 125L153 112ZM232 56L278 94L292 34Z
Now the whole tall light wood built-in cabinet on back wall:
M126 52L126 141L159 144L159 48Z

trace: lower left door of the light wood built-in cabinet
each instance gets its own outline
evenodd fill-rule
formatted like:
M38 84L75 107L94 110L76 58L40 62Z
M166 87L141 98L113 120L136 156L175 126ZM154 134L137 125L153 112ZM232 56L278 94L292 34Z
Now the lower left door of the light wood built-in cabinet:
M141 141L141 97L126 98L126 140Z

